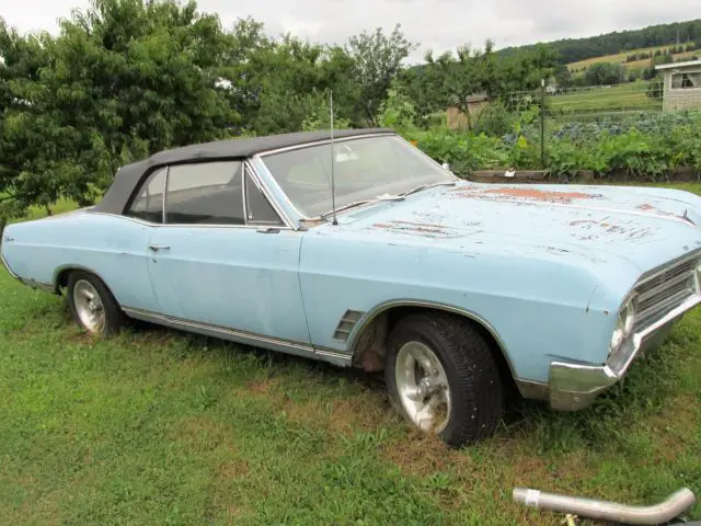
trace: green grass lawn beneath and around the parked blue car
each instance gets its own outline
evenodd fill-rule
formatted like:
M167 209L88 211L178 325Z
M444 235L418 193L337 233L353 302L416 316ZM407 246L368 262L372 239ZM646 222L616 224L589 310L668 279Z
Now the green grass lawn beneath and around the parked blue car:
M524 403L455 451L377 377L157 328L95 341L0 272L0 524L556 525L512 489L701 493L700 346L697 310L589 410Z

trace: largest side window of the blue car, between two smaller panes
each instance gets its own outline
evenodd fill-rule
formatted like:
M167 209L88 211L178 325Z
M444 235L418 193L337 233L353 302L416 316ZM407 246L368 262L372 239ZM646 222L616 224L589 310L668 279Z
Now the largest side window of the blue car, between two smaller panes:
M166 186L166 224L245 224L239 161L170 167Z

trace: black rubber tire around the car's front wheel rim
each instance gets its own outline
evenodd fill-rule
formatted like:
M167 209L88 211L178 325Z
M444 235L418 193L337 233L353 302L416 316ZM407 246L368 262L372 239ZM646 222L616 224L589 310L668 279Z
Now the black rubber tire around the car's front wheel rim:
M504 386L490 343L470 321L432 313L400 320L388 340L384 376L392 405L413 425L397 385L397 358L402 346L420 342L443 366L449 387L450 416L437 434L451 447L490 437L504 413Z

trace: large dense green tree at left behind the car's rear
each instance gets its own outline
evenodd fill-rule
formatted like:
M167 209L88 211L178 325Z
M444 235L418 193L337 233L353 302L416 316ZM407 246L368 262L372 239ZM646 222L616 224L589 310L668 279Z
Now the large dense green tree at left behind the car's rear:
M125 162L216 139L237 119L217 85L226 35L194 2L94 0L55 38L2 30L14 102L0 145L14 183L0 191L20 210L59 195L88 205Z

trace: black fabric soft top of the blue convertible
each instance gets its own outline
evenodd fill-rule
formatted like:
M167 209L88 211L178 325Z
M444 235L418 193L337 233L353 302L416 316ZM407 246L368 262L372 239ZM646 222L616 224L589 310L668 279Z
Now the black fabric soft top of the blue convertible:
M340 129L334 132L334 138L357 137L371 134L390 134L387 128ZM152 155L148 159L134 162L120 168L104 198L91 211L103 214L122 214L135 187L143 176L154 168L164 164L199 162L216 159L246 159L256 153L307 145L329 139L329 132L300 132L297 134L269 135L249 139L217 140L202 145L185 146L164 150Z

